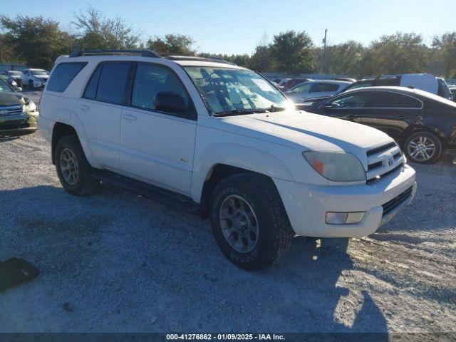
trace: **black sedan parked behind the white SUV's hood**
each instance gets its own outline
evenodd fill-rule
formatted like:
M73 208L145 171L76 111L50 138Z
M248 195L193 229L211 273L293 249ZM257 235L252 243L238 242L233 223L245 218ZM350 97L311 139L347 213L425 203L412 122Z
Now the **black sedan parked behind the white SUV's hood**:
M413 162L429 164L456 149L456 103L423 90L360 88L299 108L383 130Z

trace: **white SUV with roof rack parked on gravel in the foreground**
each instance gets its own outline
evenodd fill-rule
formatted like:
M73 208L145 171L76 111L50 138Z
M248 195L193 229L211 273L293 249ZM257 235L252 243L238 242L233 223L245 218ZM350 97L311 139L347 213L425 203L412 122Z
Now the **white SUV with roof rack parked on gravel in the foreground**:
M415 171L379 130L294 110L259 74L152 51L56 61L39 126L63 187L100 180L209 217L224 255L261 269L292 237L363 237L409 204Z

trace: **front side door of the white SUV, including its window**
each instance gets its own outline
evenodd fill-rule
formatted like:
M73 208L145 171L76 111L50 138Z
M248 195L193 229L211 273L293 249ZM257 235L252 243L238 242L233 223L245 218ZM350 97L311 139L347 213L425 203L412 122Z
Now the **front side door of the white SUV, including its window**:
M122 113L122 171L170 190L190 193L197 115L179 76L170 67L138 63ZM185 110L161 108L157 98L183 99Z

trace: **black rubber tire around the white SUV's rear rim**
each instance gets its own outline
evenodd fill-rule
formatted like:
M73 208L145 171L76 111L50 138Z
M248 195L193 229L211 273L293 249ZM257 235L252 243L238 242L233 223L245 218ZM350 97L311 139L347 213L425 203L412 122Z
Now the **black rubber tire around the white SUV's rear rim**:
M65 171L62 170L62 152L66 151L68 153L68 150L73 153L78 169L78 176L73 184L66 180L66 176L63 175ZM95 192L99 182L92 177L92 167L88 163L83 147L76 135L66 135L61 140L58 140L55 153L54 160L58 179L66 191L77 196L86 196Z

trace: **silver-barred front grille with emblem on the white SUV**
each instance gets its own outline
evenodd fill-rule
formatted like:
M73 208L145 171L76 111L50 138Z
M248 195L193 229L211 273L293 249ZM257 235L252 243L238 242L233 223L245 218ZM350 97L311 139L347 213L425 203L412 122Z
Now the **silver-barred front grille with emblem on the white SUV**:
M366 152L368 157L367 183L371 184L400 170L404 157L395 142L375 147Z

